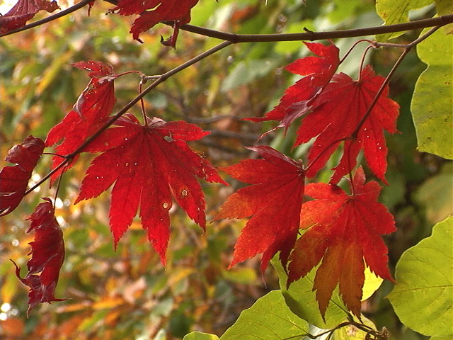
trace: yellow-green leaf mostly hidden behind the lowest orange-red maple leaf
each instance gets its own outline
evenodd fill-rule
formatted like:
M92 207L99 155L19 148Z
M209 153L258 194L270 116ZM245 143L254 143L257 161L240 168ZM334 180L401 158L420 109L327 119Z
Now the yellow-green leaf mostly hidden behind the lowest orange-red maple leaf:
M316 301L316 293L313 291L314 276L318 267L315 267L304 278L294 281L289 289L286 289L288 277L280 261L273 259L271 263L277 270L280 288L285 301L294 314L321 329L331 329L341 322L348 321L348 309L343 304L343 300L338 293L338 287L333 290L331 302L326 310L326 321L323 321L321 312L319 312L318 302ZM375 276L369 271L369 268L365 268L362 301L367 300L381 284L382 278Z

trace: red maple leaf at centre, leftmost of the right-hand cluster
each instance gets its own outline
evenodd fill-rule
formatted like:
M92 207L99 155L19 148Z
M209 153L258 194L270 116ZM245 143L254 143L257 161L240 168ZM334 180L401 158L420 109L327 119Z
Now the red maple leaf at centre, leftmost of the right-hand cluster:
M263 253L261 271L264 272L277 251L281 251L280 260L285 265L296 242L304 170L302 164L272 147L248 149L258 152L263 159L246 159L222 170L253 186L241 188L229 196L214 220L252 216L234 246L229 268Z

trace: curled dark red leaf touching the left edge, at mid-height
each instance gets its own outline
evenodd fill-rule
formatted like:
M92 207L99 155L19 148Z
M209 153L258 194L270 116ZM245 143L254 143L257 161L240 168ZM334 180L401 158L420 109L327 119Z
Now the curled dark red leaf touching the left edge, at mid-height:
M9 214L21 203L44 147L42 140L28 136L8 151L6 162L17 165L5 166L0 171L0 216Z

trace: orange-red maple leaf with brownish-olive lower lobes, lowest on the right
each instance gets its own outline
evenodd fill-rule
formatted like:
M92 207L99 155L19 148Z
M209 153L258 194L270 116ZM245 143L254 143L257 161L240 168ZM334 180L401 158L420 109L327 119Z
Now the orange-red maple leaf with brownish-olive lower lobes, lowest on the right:
M378 276L393 280L381 235L394 232L395 222L385 205L377 202L381 186L376 181L365 183L360 167L351 187L351 196L326 183L305 187L305 194L316 200L302 205L300 225L307 230L289 256L287 285L323 259L313 287L323 315L337 284L346 307L360 315L365 263Z

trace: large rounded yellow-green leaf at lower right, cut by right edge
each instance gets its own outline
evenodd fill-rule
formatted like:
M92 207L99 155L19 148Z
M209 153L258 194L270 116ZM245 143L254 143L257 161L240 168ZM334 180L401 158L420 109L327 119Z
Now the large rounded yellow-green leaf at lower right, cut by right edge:
M389 300L401 322L428 336L453 336L453 217L406 250Z

